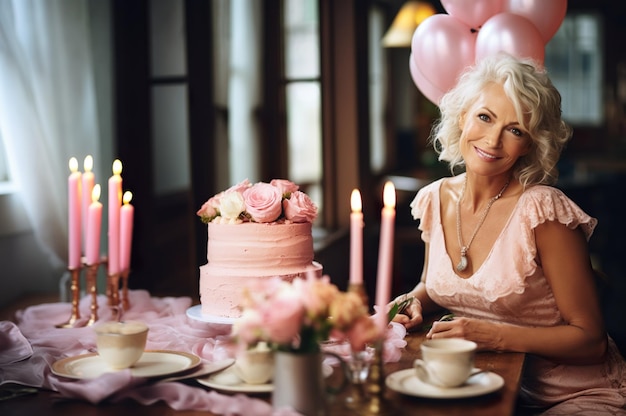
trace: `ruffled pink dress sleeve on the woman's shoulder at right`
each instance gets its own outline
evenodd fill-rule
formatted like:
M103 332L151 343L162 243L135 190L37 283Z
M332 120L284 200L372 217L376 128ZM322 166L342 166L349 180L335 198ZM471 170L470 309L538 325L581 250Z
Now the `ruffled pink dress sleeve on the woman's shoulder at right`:
M574 201L561 190L538 185L522 195L524 213L528 226L535 229L546 221L558 221L570 229L580 229L589 241L598 220L587 215Z

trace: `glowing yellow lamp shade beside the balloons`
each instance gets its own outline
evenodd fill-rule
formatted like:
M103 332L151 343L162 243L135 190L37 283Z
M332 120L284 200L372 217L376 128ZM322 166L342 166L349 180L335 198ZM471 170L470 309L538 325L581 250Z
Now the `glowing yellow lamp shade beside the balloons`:
M408 48L417 26L426 18L435 14L432 4L424 1L407 1L393 19L391 27L383 36L382 44L386 48Z

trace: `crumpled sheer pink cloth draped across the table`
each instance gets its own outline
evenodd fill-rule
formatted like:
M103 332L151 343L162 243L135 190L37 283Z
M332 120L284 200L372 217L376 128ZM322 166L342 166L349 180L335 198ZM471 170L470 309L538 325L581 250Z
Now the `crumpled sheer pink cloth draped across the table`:
M151 297L146 291L129 292L131 307L125 320L141 320L150 327L147 349L191 352L207 361L232 356L228 343L229 325L208 324L186 315L188 297ZM99 321L113 315L105 296L98 296ZM80 302L83 321L89 318L90 298ZM178 382L153 383L134 377L130 370L107 373L95 379L70 380L58 377L50 366L64 357L95 351L92 327L56 328L71 313L68 303L48 303L29 307L17 314L17 325L0 321L0 384L18 383L53 390L60 399L91 403L133 399L142 404L166 402L176 410L205 410L223 415L296 414L288 409L273 411L271 404L243 394L223 394L204 387ZM396 361L406 345L403 327L390 327L385 344L385 361Z

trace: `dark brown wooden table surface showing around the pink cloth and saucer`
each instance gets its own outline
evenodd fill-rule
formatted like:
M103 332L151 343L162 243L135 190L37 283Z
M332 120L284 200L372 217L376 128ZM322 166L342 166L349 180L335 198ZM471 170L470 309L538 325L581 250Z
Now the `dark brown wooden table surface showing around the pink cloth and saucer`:
M424 339L424 333L411 333L407 335L408 342L402 357L398 362L388 363L384 366L384 375L395 371L411 368L413 361L421 357L420 344ZM492 353L479 352L476 355L476 367L487 369L503 377L504 387L494 393L483 396L464 399L426 399L420 397L399 394L388 388L383 397L386 411L385 414L392 416L401 415L481 415L481 416L506 416L515 414L515 404L520 385L520 378L524 364L522 353ZM186 381L194 386L205 388L194 380ZM12 386L8 386L12 387ZM0 387L7 390L7 386ZM347 392L335 398L330 406L330 415L358 415L347 409L343 401ZM265 400L271 400L271 395L258 396ZM151 406L143 406L136 402L124 402L123 404L92 404L80 401L60 400L55 392L39 390L35 393L0 401L0 415L59 415L59 416L199 416L211 415L208 412L199 411L176 411L164 403L156 403ZM247 415L246 415L247 416Z

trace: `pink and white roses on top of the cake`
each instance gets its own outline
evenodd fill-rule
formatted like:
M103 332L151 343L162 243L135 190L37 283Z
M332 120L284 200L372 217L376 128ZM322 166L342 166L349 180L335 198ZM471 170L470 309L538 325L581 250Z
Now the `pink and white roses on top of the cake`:
M317 217L317 207L307 194L298 189L298 185L286 179L255 184L245 179L211 197L197 215L207 224L313 222Z

